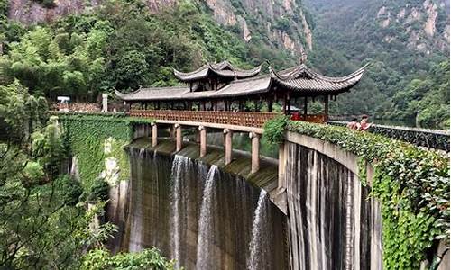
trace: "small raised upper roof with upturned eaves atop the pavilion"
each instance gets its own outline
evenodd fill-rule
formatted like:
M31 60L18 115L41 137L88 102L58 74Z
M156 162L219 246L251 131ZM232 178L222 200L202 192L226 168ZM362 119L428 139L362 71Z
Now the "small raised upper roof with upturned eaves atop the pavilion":
M228 61L222 61L217 64L206 64L188 73L180 72L179 70L174 69L174 75L182 82L197 81L210 75L242 79L257 76L261 69L262 65L246 70L235 67Z

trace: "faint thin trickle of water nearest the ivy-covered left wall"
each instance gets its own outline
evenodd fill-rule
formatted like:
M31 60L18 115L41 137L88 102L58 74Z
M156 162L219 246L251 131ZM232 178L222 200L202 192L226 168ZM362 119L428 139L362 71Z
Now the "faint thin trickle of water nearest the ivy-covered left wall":
M136 175L138 178L141 178L143 175L143 158L145 154L145 149L140 148L138 152L138 157L134 157L136 151L132 151L133 158L137 158L139 160L140 166L136 168ZM133 186L135 185L135 186ZM143 183L141 181L133 181L132 183L133 191L133 200L135 202L141 202L143 198ZM141 240L143 238L143 205L142 203L133 203L133 221L132 221L132 229L130 230L130 241L128 245L128 250L130 252L140 251L143 247L141 245Z

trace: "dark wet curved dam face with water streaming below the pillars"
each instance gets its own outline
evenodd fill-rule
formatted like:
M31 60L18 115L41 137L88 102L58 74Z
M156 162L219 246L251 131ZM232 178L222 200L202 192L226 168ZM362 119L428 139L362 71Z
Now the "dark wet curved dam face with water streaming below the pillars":
M129 154L124 229L114 250L157 247L187 270L246 268L260 189L217 166L156 153L143 141ZM284 269L284 217L268 196L259 209L266 227L253 240L258 266Z

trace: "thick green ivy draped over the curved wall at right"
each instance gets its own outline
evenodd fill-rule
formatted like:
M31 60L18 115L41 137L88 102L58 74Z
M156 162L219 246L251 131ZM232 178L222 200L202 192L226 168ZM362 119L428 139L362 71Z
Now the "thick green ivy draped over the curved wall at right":
M414 269L449 235L449 159L380 135L290 121L288 130L334 143L371 163L372 196L382 202L386 269ZM359 171L363 171L359 169Z

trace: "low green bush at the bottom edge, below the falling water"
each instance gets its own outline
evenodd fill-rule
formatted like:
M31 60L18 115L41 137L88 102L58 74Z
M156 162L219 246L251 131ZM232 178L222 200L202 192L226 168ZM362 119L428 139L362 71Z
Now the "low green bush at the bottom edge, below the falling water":
M106 249L90 250L83 258L83 270L104 269L175 269L174 261L161 257L160 251L153 247L138 253L119 253L111 255Z

